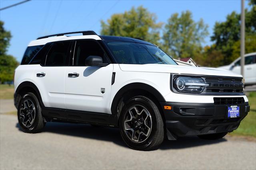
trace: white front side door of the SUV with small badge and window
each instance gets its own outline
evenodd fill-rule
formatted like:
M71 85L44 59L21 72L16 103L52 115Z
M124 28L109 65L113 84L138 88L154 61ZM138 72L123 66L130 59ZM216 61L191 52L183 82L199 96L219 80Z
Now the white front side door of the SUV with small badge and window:
M73 66L65 74L65 103L67 109L109 113L113 64L85 66L88 56L100 56L110 63L106 53L96 40L77 40Z

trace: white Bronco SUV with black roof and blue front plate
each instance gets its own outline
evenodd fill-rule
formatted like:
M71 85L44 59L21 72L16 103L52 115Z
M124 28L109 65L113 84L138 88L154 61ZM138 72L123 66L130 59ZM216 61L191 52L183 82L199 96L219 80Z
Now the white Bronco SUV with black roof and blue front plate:
M152 43L63 33L30 42L14 76L14 103L24 132L46 122L119 127L136 150L164 137L218 139L237 129L250 106L242 76L179 66Z

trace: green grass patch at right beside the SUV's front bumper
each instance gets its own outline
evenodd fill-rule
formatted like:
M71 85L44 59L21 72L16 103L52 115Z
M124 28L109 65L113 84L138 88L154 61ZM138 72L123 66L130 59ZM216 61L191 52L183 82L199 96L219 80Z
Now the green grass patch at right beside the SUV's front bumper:
M242 120L237 130L230 135L253 136L256 138L256 92L250 92L248 95L250 112Z

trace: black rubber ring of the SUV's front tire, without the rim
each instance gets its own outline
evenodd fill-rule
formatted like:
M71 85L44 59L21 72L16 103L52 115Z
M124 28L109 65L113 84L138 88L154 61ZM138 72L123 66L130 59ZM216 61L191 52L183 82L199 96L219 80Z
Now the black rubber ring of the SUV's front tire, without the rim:
M150 102L152 102L152 101L150 101ZM132 149L136 149L136 150L146 149L152 143L154 136L158 130L158 117L156 115L157 110L155 110L152 107L150 102L143 98L132 98L131 100L128 100L128 102L124 105L124 108L122 108L122 111L120 114L120 122L119 122L120 123L120 133L122 135L124 142ZM124 119L125 119L126 112L128 112L129 108L134 105L141 105L141 106L145 107L148 110L148 112L150 112L150 115L152 118L152 129L150 132L150 136L144 142L141 142L141 143L133 142L127 136L127 134L124 130Z

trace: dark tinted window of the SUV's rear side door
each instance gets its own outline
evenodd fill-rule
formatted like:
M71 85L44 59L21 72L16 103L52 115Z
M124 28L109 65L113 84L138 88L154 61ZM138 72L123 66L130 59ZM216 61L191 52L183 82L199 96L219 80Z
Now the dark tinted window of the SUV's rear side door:
M70 42L55 42L46 56L46 66L66 66L68 65Z

